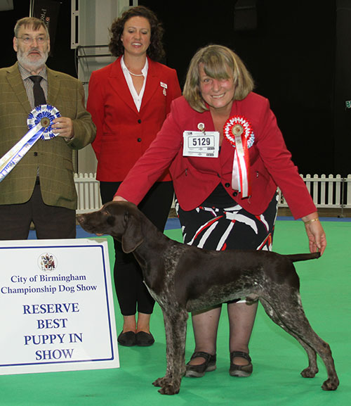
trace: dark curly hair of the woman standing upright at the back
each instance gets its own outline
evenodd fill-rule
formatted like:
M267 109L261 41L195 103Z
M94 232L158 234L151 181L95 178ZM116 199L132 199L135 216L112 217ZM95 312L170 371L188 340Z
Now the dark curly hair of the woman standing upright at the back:
M157 15L145 6L135 6L124 11L121 17L114 20L110 29L110 44L109 48L113 56L120 56L124 53L123 42L121 42L121 34L123 34L124 25L129 18L144 17L151 27L150 46L147 49L147 56L154 61L163 61L165 52L162 44L164 29L157 19Z

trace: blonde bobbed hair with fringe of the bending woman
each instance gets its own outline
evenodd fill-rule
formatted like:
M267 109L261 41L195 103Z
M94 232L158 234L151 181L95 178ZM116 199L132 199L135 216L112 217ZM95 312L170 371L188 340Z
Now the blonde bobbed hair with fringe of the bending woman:
M183 89L183 96L190 106L199 113L208 110L200 91L200 64L203 65L206 75L213 77L213 79L233 78L233 100L245 99L253 90L253 78L236 53L222 45L205 46L192 57Z

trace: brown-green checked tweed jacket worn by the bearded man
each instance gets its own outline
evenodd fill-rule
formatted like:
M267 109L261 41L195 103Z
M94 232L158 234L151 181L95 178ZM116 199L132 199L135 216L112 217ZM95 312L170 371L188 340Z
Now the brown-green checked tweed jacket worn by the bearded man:
M95 125L84 107L84 89L79 80L47 68L47 103L62 117L73 120L74 139L39 139L15 168L0 182L0 205L25 203L32 196L37 179L47 205L77 208L72 149L80 149L95 138ZM27 132L27 117L32 110L18 70L18 63L0 69L0 158Z

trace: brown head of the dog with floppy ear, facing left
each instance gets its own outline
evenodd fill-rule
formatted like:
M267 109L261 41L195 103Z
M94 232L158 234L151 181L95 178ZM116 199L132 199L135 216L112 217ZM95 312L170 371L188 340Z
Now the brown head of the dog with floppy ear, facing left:
M81 227L93 234L108 234L131 253L143 243L142 213L133 203L111 201L95 212L77 215Z

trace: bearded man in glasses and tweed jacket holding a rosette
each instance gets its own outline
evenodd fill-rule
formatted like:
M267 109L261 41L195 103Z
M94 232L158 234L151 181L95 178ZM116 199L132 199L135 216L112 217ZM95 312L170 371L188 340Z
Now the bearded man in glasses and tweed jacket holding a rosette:
M75 238L72 151L93 141L95 125L81 82L46 66L45 23L22 18L14 32L18 61L0 69L0 158L28 132L27 118L36 106L54 106L61 116L51 125L56 137L35 142L0 182L0 239L27 239L32 222L38 239Z

